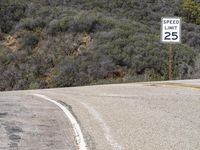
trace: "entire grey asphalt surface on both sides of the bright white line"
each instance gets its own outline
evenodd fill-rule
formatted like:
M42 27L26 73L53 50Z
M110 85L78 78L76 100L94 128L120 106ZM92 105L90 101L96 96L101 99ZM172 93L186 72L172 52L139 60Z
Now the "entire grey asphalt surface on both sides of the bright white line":
M0 149L200 150L200 80L0 93Z

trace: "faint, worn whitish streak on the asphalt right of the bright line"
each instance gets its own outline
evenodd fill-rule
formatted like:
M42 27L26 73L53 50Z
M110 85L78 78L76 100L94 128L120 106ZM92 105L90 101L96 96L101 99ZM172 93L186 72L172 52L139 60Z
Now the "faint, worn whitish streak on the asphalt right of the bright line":
M106 137L106 140L108 143L112 146L113 150L122 150L122 146L117 143L117 141L113 138L111 135L110 128L108 125L104 122L101 115L91 106L88 104L85 104L83 102L80 102L87 110L88 112L99 122L101 125L101 128L103 129L104 136Z

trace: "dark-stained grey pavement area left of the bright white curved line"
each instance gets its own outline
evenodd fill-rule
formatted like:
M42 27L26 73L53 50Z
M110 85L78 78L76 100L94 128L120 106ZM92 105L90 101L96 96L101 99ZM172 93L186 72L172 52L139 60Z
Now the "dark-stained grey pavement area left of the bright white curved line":
M74 150L73 134L54 104L20 92L0 93L0 150Z

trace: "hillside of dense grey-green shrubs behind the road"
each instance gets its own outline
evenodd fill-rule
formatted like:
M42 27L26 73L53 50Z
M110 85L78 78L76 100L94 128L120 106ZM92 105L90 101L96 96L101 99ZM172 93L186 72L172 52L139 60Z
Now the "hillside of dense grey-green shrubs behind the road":
M183 17L174 79L200 77L195 0L1 0L0 90L167 79L160 19Z

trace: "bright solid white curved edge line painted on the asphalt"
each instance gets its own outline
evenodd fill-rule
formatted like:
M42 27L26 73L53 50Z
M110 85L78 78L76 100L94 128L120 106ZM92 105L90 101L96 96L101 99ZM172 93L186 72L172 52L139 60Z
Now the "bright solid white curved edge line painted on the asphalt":
M78 144L79 150L87 150L87 144L86 144L86 142L84 140L83 133L81 131L81 127L78 124L78 122L75 119L75 117L71 114L71 112L66 107L64 107L62 104L58 103L57 101L46 97L45 95L41 95L41 94L31 94L31 95L43 98L43 99L45 99L47 101L50 101L50 102L54 103L55 105L57 105L60 109L62 109L62 111L69 118L69 121L71 122L71 124L73 126L73 129L74 129L74 132L75 132L75 136L76 136L76 142Z

